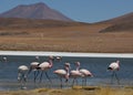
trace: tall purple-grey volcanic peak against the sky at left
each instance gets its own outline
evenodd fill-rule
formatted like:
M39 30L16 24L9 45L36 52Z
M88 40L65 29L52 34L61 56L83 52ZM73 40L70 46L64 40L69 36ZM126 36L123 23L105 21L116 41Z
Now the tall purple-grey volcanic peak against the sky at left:
M18 6L0 14L1 18L24 18L72 21L62 13L49 8L45 3L39 2L30 6Z

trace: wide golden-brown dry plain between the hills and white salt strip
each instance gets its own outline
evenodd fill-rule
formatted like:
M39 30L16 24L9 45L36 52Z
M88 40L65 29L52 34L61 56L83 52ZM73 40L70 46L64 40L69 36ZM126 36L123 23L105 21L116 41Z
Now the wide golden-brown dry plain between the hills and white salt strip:
M111 24L63 24L0 27L0 50L133 53L133 32L130 30L101 33Z

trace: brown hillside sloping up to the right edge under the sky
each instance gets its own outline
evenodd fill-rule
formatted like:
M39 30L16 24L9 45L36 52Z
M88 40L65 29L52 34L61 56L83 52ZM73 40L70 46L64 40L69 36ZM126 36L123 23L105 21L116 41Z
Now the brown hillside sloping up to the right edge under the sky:
M101 30L100 32L121 32L121 31L131 32L133 31L133 12L99 23L111 24L110 27Z

